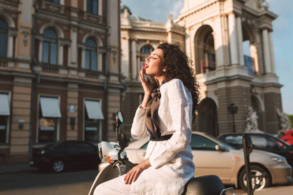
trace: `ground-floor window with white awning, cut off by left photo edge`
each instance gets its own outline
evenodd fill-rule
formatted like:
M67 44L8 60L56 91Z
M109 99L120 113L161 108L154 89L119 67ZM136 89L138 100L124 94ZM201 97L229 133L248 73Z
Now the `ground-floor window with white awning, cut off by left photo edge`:
M10 116L9 95L0 93L0 143L6 143L9 116Z

